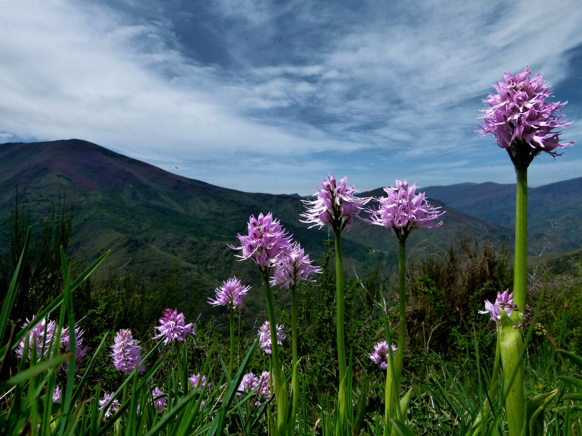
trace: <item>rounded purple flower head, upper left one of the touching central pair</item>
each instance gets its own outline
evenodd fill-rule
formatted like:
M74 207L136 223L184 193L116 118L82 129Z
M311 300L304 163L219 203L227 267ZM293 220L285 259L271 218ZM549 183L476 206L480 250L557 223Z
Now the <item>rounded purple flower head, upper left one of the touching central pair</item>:
M247 224L248 235L236 235L241 246L229 245L235 250L242 250L241 259L253 259L258 266L268 269L275 265L276 260L289 251L291 237L286 236L281 223L273 220L271 212L260 213L257 218L251 215Z

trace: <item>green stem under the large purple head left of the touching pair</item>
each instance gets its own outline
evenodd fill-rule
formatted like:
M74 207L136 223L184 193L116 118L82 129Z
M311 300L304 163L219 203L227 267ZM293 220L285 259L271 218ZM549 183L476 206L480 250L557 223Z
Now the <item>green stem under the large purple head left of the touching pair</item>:
M275 397L277 399L277 431L278 436L287 434L287 383L279 361L279 345L277 344L277 326L275 321L275 309L273 308L273 297L271 286L269 285L268 271L262 271L262 280L265 285L265 300L267 301L267 313L269 315L269 326L271 327L271 357L273 359L273 381L275 383Z

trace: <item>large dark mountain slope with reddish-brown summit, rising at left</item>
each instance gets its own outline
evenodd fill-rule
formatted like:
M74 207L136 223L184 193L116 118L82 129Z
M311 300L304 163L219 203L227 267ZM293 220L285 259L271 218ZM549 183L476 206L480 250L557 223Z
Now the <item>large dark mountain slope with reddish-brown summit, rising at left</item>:
M320 180L313 180L314 189ZM272 211L317 261L328 231L299 222L304 206L294 195L250 194L168 173L81 140L0 145L0 251L8 249L10 212L18 187L21 204L42 217L49 202L66 194L77 214L73 251L87 260L112 249L101 274L123 268L152 280L172 269L178 255L180 281L204 301L214 288L236 274L260 286L250 262L236 262L227 243L236 244L251 214ZM446 249L463 233L501 243L512 231L445 207L445 224L410 238L411 255ZM384 276L396 266L396 238L384 228L356 220L345 234L346 271L364 276L378 264ZM258 294L261 295L261 294ZM262 298L249 301L250 313ZM203 303L201 303L203 304Z

